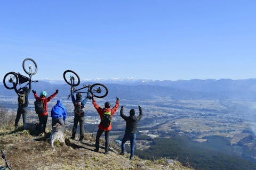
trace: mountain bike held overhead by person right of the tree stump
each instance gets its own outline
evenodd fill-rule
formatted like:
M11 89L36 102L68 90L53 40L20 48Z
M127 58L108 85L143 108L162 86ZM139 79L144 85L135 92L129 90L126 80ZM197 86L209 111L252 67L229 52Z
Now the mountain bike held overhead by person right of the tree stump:
M79 78L78 74L72 70L66 70L63 73L63 78L66 81L66 83L68 83L71 86L71 88L74 88L80 84L80 78ZM87 90L83 91L82 89L87 89ZM104 84L101 84L101 83L95 83L92 85L84 84L83 87L81 87L81 88L78 88L78 89L74 88L74 92L81 92L81 93L89 93L90 92L90 94L94 95L94 97L103 98L108 95L108 88ZM69 99L70 95L68 95L68 99Z

